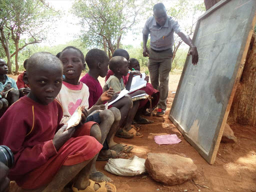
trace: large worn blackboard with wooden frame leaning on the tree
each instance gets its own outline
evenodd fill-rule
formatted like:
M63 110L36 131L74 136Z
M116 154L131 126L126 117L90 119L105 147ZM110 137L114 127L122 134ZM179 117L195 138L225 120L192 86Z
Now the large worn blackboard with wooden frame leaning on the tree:
M193 43L199 60L187 56L170 120L213 164L238 84L252 29L256 0L221 0L198 18Z

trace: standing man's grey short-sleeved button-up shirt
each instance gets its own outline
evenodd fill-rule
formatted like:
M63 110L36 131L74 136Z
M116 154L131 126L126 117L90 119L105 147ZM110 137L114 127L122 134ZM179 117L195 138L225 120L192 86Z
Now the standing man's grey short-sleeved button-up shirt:
M150 16L142 30L143 34L150 33L150 47L154 50L166 50L174 44L173 32L181 30L178 22L167 15L163 26L158 26L153 16Z

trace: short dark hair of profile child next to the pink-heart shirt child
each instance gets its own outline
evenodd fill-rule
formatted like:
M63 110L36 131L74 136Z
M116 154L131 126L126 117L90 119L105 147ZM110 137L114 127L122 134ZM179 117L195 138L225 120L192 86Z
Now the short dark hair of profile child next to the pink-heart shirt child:
M98 62L103 63L106 57L108 58L105 51L98 48L92 48L85 55L85 62L87 63L89 68L93 68Z

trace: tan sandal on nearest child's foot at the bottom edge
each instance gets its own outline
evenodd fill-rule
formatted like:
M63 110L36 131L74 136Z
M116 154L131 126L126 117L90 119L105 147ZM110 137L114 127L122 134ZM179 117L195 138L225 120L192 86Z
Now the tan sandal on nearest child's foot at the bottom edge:
M89 186L87 186L85 189L83 190L78 190L78 188L75 188L73 185L72 185L72 191L73 192L106 192L106 188L105 188L105 184L109 185L113 192L116 192L116 187L110 183L110 182L95 182L93 180L90 180L89 179ZM100 187L97 189L97 190L94 190L94 184L97 183Z

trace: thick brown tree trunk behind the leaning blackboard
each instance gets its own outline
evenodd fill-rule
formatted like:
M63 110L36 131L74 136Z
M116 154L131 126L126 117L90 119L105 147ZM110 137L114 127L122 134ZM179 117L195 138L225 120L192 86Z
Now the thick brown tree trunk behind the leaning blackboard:
M206 10L219 0L204 0ZM233 102L228 114L227 123L238 122L243 125L256 125L256 40L253 34L237 86Z

